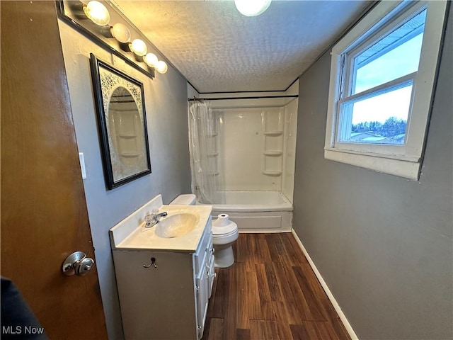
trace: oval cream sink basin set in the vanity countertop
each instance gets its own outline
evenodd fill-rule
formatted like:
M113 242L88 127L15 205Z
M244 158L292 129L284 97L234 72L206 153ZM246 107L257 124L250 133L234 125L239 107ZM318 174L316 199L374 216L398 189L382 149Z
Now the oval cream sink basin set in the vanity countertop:
M197 227L197 216L188 212L168 215L156 224L156 235L164 239L181 237Z

